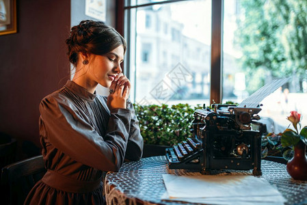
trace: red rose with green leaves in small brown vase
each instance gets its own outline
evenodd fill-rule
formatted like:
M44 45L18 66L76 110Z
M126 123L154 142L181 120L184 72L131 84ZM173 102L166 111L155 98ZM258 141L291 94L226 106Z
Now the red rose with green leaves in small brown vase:
M283 147L291 147L294 150L294 155L286 163L286 170L295 180L307 180L307 126L300 129L301 115L297 111L291 111L291 115L287 119L292 123L294 130L286 128L282 133L281 143Z

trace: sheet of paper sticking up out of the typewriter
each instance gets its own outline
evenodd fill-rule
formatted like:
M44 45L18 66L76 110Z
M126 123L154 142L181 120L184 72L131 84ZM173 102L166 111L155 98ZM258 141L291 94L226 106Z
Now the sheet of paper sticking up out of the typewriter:
M264 98L269 96L269 94L273 93L278 89L278 87L284 85L284 83L288 82L290 79L291 78L289 77L267 83L265 86L254 92L251 96L243 100L238 107L257 107Z

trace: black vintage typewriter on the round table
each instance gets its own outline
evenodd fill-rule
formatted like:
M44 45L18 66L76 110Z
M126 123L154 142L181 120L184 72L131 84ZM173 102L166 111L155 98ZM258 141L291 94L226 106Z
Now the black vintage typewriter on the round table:
M197 169L202 174L213 170L252 170L261 175L261 135L266 132L258 107L213 104L196 109L191 137L167 148L170 169Z

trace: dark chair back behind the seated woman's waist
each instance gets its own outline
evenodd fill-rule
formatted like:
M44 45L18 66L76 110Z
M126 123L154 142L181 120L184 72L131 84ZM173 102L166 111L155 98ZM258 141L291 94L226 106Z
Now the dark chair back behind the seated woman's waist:
M46 173L42 155L3 167L1 180L7 191L6 204L23 204L29 191Z

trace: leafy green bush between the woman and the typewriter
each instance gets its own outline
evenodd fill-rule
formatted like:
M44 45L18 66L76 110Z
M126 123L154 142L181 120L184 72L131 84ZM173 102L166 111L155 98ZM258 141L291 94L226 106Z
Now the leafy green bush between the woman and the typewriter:
M134 105L144 143L173 146L191 137L193 112L188 104Z

